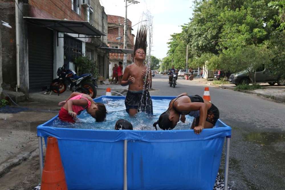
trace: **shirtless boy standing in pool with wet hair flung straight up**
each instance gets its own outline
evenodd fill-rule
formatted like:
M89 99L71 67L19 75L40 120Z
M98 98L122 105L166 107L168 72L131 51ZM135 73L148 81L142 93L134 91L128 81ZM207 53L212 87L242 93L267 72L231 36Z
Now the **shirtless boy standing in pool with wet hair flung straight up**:
M146 73L147 68L144 64L146 58L146 34L146 27L142 26L137 32L134 63L127 66L121 81L122 86L129 85L125 106L127 113L131 116L136 115L138 111L153 115L152 100L148 92L152 85L151 70Z

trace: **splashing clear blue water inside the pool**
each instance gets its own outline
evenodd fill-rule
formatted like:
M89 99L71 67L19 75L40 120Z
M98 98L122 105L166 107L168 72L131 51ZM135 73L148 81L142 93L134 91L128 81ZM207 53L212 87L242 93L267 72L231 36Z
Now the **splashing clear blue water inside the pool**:
M119 119L125 119L131 122L134 130L155 130L152 124L156 122L161 113L167 110L170 100L152 100L153 103L153 116L146 113L138 113L135 117L130 117L125 111L125 100L114 100L109 98L102 98L101 103L105 104L107 109L107 121L95 122L85 110L78 115L79 121L76 123L66 123L59 119L53 121L53 127L61 128L81 128L81 129L103 129L113 130L115 123ZM178 122L174 130L189 129L193 121L193 117L186 115L186 122ZM158 125L157 129L161 130Z

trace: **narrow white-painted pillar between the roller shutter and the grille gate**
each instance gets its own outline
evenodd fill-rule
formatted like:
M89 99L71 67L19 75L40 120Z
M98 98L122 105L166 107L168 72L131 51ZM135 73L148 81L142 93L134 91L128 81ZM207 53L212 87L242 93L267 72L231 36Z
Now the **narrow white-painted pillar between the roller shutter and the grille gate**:
M62 32L58 32L59 37L63 37L64 34ZM56 71L58 68L62 67L64 64L64 48L63 48L63 38L58 38L57 44L57 32L54 32L54 79L58 76L56 75Z

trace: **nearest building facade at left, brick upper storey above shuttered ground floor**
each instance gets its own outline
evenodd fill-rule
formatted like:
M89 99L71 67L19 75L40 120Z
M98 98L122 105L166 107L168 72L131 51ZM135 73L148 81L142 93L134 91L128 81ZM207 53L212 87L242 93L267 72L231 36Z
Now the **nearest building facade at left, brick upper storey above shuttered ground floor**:
M0 12L12 26L0 30L3 89L28 97L49 85L59 67L74 69L78 56L89 56L99 75L109 76L109 53L99 50L107 47L107 15L99 0L5 0Z

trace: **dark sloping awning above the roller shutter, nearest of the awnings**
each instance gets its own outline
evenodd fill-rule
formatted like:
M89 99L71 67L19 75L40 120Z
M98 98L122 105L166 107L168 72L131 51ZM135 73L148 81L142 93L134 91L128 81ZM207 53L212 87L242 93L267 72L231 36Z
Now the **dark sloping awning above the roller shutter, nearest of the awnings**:
M68 21L59 19L42 19L33 17L23 17L30 24L51 28L58 32L73 34L85 34L91 36L106 36L87 21Z

